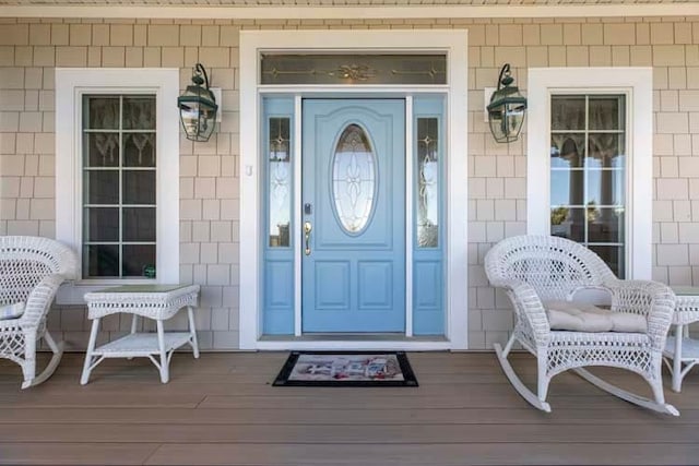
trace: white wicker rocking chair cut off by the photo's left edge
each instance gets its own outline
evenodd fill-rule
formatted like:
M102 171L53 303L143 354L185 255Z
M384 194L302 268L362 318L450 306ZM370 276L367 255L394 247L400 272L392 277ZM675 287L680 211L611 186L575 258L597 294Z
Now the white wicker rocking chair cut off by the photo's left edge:
M0 320L0 357L22 367L22 389L48 379L60 362L63 343L46 330L46 315L61 283L75 278L78 260L71 249L48 238L0 237L0 306L24 302L19 319ZM54 353L36 374L36 345L44 338Z

